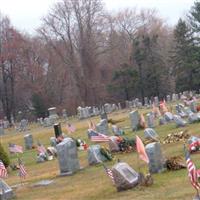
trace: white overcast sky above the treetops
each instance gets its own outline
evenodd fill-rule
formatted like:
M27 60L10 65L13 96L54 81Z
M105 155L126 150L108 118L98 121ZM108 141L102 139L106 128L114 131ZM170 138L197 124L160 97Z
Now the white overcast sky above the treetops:
M59 0L0 0L0 11L22 31L34 33L42 16ZM104 0L108 10L126 7L155 8L169 24L176 24L193 5L194 0Z

